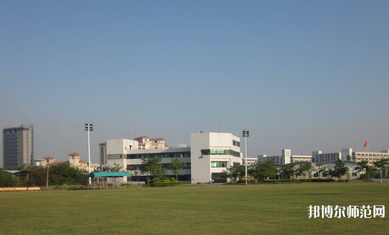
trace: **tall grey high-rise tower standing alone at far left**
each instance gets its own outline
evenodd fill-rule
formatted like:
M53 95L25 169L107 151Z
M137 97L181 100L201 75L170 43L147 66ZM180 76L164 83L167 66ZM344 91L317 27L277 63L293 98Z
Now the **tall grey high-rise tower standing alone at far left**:
M3 126L3 167L34 163L34 127Z

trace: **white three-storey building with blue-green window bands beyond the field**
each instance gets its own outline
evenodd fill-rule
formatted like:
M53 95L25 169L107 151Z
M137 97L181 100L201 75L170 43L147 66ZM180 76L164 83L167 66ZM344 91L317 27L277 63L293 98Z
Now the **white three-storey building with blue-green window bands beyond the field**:
M226 182L226 179L220 178L220 173L230 166L240 165L242 162L239 140L239 137L230 133L200 132L191 134L190 146L177 148L158 148L157 146L157 148L149 149L130 149L127 147L128 145L137 145L137 141L107 140L106 164L116 163L123 166L124 169L128 169L132 174L131 181L145 181L148 177L146 175L134 176L134 171L141 170L142 159L162 157L161 163L167 168L173 159L179 158L181 162L187 163L187 167L181 170L183 175L178 176L179 181L183 181L183 183L205 183L212 180ZM170 170L166 172L166 176L175 177ZM129 181L129 179L127 180Z

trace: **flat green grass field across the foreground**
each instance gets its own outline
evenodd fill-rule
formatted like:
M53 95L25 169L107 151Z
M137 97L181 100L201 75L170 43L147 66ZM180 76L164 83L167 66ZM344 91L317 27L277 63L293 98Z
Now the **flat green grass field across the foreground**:
M335 182L0 193L0 234L389 234L385 218L308 218L385 205L389 184Z

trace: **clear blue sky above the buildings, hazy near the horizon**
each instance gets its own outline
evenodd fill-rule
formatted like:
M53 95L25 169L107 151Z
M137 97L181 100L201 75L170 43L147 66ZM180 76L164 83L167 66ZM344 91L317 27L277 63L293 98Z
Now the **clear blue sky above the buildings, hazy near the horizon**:
M57 161L87 159L86 121L95 163L106 139L189 145L219 117L222 132L250 129L248 157L363 151L366 138L389 149L388 12L357 0L1 1L1 125L34 124L35 159Z

